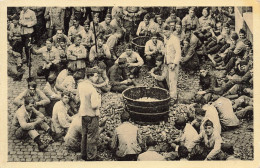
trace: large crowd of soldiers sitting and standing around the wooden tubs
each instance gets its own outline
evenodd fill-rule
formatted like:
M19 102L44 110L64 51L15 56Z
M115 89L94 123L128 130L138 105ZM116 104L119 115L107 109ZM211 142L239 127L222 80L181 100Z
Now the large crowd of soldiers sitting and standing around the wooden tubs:
M226 159L223 153L232 150L221 145L221 130L237 128L239 119L253 115L252 44L243 29L234 31L234 7L23 7L9 8L8 23L8 75L22 80L31 54L43 60L37 75L30 73L28 89L14 100L17 138L29 134L41 151L48 145L39 127L54 140L65 136L68 147L81 147L83 160L96 160L105 123L99 121L101 95L137 86L144 67L173 101L178 100L179 68L200 71L196 116L176 120L175 127L183 130L176 139L179 159ZM135 37L149 38L144 54L133 49ZM118 55L120 45L124 52ZM220 70L222 84L214 74ZM46 79L43 91L37 87L40 76ZM140 154L138 128L129 119L122 112L122 125L111 136L118 160L164 160L154 151L152 137ZM196 145L200 141L203 147Z

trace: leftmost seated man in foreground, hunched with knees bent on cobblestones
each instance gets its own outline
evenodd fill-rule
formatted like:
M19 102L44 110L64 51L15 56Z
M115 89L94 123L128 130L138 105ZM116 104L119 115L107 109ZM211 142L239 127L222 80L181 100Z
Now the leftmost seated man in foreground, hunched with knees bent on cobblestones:
M24 105L16 111L14 116L14 125L16 127L15 135L18 139L24 139L29 135L34 142L38 144L39 151L43 151L48 145L43 144L40 140L40 134L36 128L42 128L51 136L53 136L54 133L45 122L44 115L34 108L34 103L33 98L27 97L24 100ZM33 116L35 116L35 120L33 120Z

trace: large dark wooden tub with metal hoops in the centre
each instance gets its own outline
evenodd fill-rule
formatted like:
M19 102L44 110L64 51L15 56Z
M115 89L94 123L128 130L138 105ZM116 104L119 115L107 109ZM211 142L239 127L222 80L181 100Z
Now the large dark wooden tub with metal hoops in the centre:
M170 95L166 89L158 87L134 87L123 91L125 110L132 120L156 122L165 120L169 113ZM141 98L151 98L144 101ZM140 100L141 99L141 100Z

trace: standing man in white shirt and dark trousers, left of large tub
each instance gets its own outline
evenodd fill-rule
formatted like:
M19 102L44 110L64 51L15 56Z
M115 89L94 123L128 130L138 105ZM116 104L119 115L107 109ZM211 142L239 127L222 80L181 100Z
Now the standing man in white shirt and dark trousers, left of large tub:
M82 117L81 157L83 160L95 160L99 139L99 107L101 96L92 83L98 81L98 70L88 69L87 80L78 84L80 98L79 115Z

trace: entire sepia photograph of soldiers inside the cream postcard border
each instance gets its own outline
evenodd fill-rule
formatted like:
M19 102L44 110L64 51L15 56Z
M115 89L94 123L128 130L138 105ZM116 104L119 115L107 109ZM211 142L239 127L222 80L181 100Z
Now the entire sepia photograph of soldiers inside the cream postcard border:
M7 162L257 160L254 7L185 5L7 6Z

